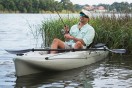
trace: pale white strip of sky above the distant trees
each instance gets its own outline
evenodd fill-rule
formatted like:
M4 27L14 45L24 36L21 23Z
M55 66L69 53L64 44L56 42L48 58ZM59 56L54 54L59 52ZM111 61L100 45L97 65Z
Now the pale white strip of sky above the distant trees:
M55 1L61 1L61 0L55 0ZM80 5L98 5L100 3L102 4L112 4L114 2L128 2L132 3L132 0L70 0L73 4L80 4Z

